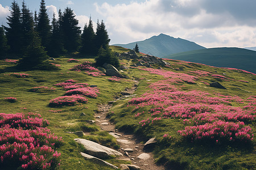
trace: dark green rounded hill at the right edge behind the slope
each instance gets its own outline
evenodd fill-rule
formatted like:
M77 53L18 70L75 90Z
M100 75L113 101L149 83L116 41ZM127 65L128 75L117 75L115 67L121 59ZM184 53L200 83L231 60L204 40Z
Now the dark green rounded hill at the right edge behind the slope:
M256 73L256 51L242 48L208 48L172 54L164 58L231 67Z

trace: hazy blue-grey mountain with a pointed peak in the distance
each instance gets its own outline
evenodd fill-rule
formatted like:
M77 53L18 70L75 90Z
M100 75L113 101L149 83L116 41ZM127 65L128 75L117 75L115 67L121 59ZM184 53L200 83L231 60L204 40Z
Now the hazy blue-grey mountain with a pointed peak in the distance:
M159 36L152 36L143 41L131 42L129 44L113 44L124 48L134 49L136 43L139 51L156 57L164 57L170 54L188 52L191 50L205 49L203 46L188 40L174 38L161 33Z

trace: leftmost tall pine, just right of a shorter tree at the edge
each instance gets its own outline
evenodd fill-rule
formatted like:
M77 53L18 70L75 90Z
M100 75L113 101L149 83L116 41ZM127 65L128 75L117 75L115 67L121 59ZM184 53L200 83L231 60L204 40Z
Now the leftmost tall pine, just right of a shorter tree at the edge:
M7 24L5 27L7 44L10 45L10 52L13 54L21 54L22 52L22 30L20 24L20 8L15 0L11 3L11 15L7 16Z

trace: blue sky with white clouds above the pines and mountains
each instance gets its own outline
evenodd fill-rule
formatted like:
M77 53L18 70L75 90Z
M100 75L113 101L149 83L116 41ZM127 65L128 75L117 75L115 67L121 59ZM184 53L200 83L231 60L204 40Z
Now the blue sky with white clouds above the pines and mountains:
M23 0L16 0L21 6ZM13 0L0 0L0 22L6 25ZM39 11L40 0L25 0ZM255 0L45 0L49 18L71 7L84 27L92 16L104 20L110 44L127 44L164 33L206 48L256 46Z

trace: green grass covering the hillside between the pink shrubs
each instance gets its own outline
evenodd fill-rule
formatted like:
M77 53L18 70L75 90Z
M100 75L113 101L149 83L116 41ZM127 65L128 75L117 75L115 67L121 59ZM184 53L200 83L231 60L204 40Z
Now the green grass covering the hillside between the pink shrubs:
M111 46L115 52L127 52L127 49ZM76 58L75 54L72 56ZM83 130L87 132L82 138L96 141L105 146L112 146L117 149L118 145L115 139L96 125L90 125L85 120L94 120L94 111L97 110L98 104L107 103L113 100L115 95L123 91L126 87L133 86L131 79L139 80L139 85L135 94L140 96L148 91L148 83L162 80L163 76L150 74L147 71L131 68L129 65L133 61L122 59L123 65L129 69L125 70L129 79L122 79L121 82L110 82L107 78L109 76L93 77L88 76L82 72L71 71L73 66L78 65L84 61L94 62L94 58L85 57L79 58L79 63L69 63L67 60L70 57L56 58L56 61L51 61L61 65L60 70L56 71L19 71L12 63L1 63L0 65L0 105L3 113L17 113L17 112L35 112L42 115L43 118L49 121L48 128L52 133L59 137L63 137L64 145L57 148L57 152L61 153L61 165L59 169L112 169L109 167L102 167L94 164L89 160L82 158L79 152L84 151L84 148L77 144L73 139L78 138L75 134L66 133L67 131ZM209 92L214 96L214 93L222 95L240 96L246 99L249 96L256 94L256 76L253 74L243 73L237 70L227 70L217 67L209 67L195 63L185 63L180 61L168 61L171 63L170 68L165 70L189 73L189 71L203 70L210 71L213 74L225 75L232 79L220 82L227 90L212 88L205 85L203 82L210 83L216 80L212 76L201 76L196 81L196 84L179 84L179 88L184 91L200 90ZM153 66L157 68L158 66ZM175 71L184 67L184 71ZM9 76L9 73L26 73L31 76L28 78L14 78ZM193 75L193 74L191 74ZM97 85L100 89L100 95L97 99L90 99L87 104L76 105L74 107L50 108L48 107L49 100L55 97L62 96L65 91L62 87L56 87L53 84L64 82L65 80L77 80L77 83L88 83L90 85ZM238 80L248 81L250 83L239 82ZM55 87L53 92L35 93L30 92L32 87L47 86ZM16 97L16 103L9 103L4 100L5 97ZM131 97L129 98L131 99ZM112 107L113 113L110 113L111 120L119 130L133 132L139 134L142 142L146 142L151 137L156 137L158 146L154 150L156 162L159 164L171 165L174 169L256 169L255 156L255 139L253 145L247 146L209 146L209 145L195 145L193 143L185 142L177 134L177 130L184 129L183 120L168 119L155 122L154 125L148 125L142 128L138 122L148 116L148 109L151 106L134 109L127 107L129 99L121 99L114 103ZM241 107L245 104L232 103L234 107ZM23 109L26 108L26 109ZM134 110L133 110L134 109ZM49 112L49 110L60 113ZM144 113L139 117L134 117L138 112ZM84 112L85 116L81 116ZM255 122L250 124L253 131L256 131ZM168 133L172 136L170 141L163 138L163 134ZM255 134L255 133L254 133ZM114 158L106 160L114 165L128 163Z

